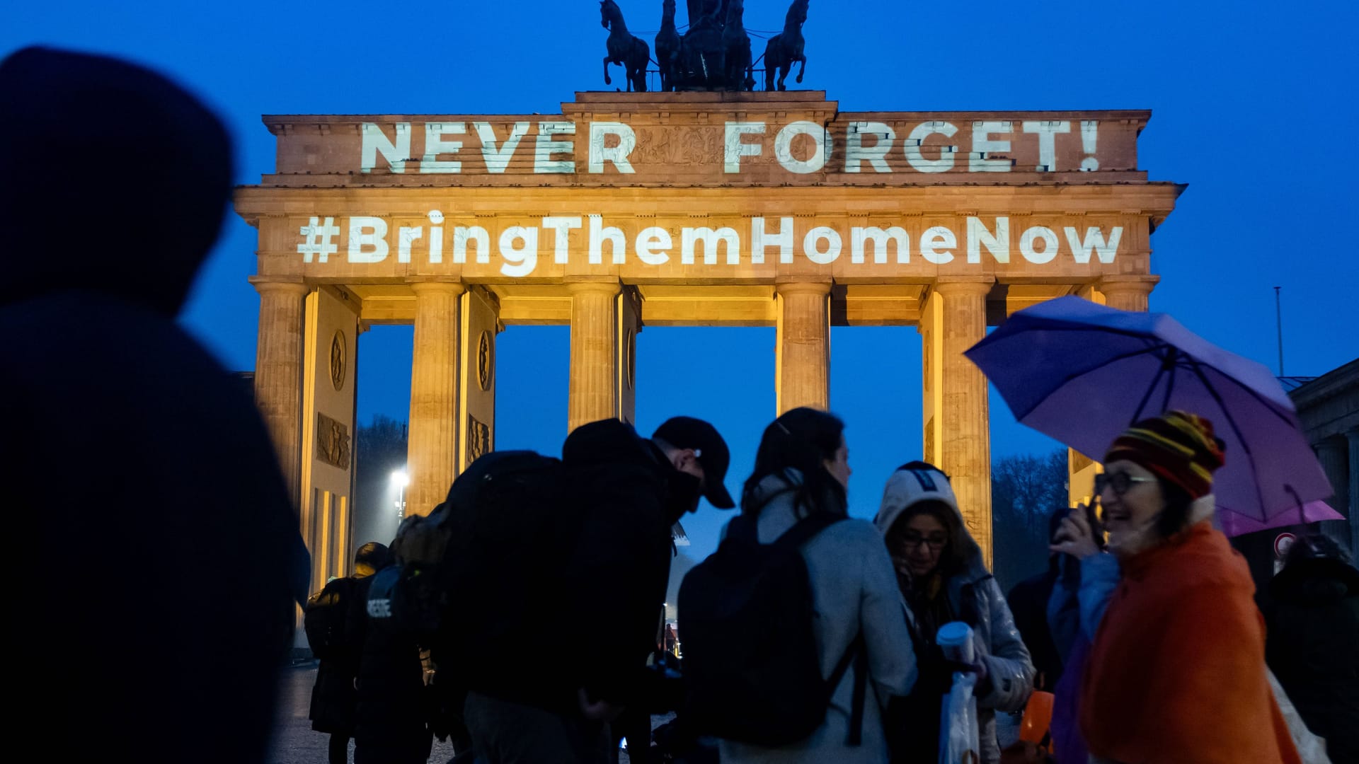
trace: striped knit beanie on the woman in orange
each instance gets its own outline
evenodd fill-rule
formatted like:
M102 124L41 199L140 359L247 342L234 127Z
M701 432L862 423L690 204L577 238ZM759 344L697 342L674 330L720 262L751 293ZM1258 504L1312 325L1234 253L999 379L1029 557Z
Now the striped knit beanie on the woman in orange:
M1144 419L1118 435L1105 464L1127 459L1184 488L1192 499L1212 492L1212 470L1223 464L1212 423L1182 411Z

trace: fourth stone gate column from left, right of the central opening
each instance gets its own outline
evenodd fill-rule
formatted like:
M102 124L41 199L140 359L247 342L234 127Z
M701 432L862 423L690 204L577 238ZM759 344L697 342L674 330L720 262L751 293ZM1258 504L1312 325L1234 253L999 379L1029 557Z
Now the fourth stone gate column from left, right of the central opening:
M779 415L798 406L830 408L830 283L790 281L775 287Z

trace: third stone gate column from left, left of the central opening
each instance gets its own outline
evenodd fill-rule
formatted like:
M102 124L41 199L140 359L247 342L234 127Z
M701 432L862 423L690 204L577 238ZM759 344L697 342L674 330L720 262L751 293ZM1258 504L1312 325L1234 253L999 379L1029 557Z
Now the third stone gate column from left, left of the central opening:
M618 397L618 295L617 279L572 281L571 292L571 389L567 427L621 415Z

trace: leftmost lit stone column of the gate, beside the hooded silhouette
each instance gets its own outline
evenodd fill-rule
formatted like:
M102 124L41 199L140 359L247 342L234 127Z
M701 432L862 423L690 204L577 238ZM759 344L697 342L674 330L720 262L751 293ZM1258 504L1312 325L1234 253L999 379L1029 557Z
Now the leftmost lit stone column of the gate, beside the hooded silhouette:
M255 405L269 428L288 495L296 507L302 466L302 280L251 276L260 292L260 338L255 348Z

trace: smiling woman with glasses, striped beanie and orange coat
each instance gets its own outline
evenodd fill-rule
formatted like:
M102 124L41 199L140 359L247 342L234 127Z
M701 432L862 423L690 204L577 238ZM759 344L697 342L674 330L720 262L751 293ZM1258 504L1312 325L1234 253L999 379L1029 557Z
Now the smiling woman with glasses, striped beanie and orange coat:
M1298 763L1265 674L1254 585L1210 522L1223 464L1212 424L1182 412L1139 421L1104 462L1097 493L1123 578L1084 669L1091 759ZM1059 537L1087 536L1082 521Z

